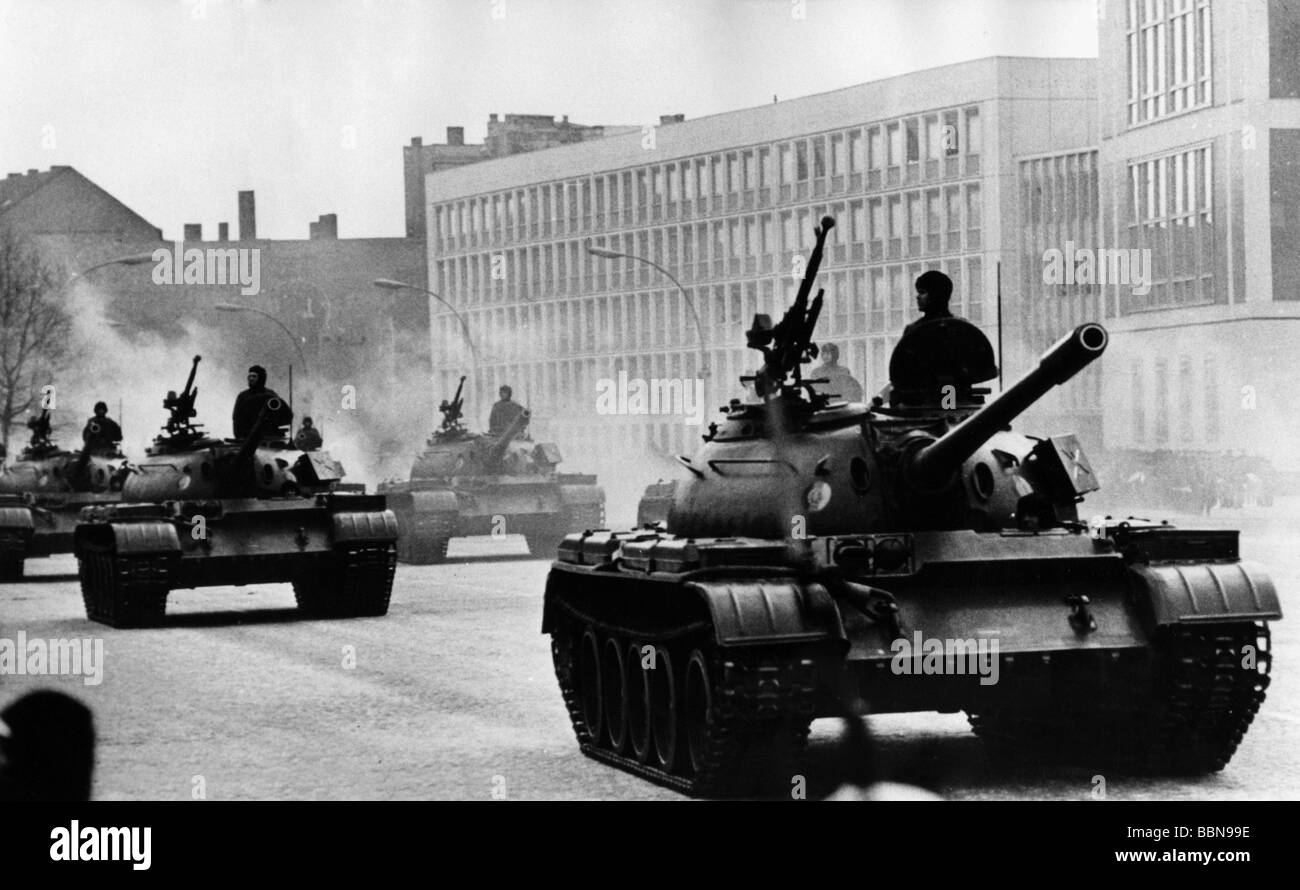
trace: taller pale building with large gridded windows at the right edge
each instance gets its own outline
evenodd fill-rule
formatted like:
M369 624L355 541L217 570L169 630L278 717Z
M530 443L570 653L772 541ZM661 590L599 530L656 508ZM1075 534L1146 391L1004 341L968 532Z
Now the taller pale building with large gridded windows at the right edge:
M1150 251L1106 286L1112 448L1300 469L1300 4L1109 0L1098 242Z

